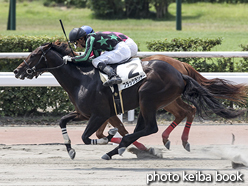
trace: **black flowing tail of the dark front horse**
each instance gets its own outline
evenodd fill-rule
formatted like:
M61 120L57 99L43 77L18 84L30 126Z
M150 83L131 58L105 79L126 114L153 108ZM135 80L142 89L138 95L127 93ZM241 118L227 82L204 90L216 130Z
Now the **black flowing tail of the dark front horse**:
M235 118L244 113L240 110L236 111L225 108L224 105L218 102L218 100L215 98L215 95L210 93L208 89L201 86L193 78L183 74L182 76L186 81L182 98L191 102L196 107L200 116L202 116L202 113L208 114L209 109L218 116L226 119Z

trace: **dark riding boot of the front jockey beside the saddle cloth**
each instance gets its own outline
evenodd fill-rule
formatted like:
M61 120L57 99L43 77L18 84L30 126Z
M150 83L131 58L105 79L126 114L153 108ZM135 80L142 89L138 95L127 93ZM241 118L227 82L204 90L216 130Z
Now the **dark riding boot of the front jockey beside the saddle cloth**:
M108 75L109 80L103 83L104 86L113 86L114 84L120 84L122 82L121 78L116 75L114 69L111 66L101 62L97 65L97 68Z

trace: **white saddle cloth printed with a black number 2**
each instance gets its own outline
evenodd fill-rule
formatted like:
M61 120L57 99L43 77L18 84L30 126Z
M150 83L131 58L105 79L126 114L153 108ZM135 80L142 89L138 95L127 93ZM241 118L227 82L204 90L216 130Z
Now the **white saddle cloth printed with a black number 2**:
M103 74L100 71L99 73L103 83L108 80L106 74ZM122 83L118 84L119 91L127 89L146 78L146 74L143 71L139 58L132 58L130 62L118 65L116 68L116 74L118 74L122 79Z

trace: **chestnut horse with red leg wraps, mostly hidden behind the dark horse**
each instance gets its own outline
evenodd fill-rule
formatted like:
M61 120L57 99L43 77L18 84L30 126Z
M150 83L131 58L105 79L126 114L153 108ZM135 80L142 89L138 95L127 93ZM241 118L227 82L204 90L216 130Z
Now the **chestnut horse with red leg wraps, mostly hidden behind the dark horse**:
M227 99L239 104L244 104L246 102L248 87L244 84L234 84L230 81L219 78L207 79L203 77L199 72L197 72L191 65L164 55L153 55L150 57L143 58L142 61L150 61L154 59L165 61L170 65L172 65L174 68L176 68L182 74L194 78L199 84L207 88L211 93L215 94L218 98ZM167 149L170 148L170 141L168 139L170 133L186 117L187 121L181 136L181 140L183 147L187 151L190 151L188 136L189 136L190 127L195 117L196 108L193 105L189 105L185 103L181 99L181 97L179 97L177 98L177 100L165 106L163 109L170 112L175 117L174 121L166 128L166 130L162 134L162 139L165 147ZM83 118L80 116L79 113L74 112L63 117L60 123L63 123L63 125L66 126L66 123L69 122L68 118L70 118L69 120L77 120L77 121L83 120ZM125 136L126 134L128 134L128 131L125 129L124 125L119 120L119 118L117 116L113 116L97 130L96 136L98 138L106 137L103 134L103 132L108 123L110 123L113 127L118 128L118 132L121 134L121 136ZM120 141L121 140L119 138L111 139L111 142L115 142L115 143L120 143ZM145 151L149 150L139 142L134 142L134 145L140 150L145 150Z

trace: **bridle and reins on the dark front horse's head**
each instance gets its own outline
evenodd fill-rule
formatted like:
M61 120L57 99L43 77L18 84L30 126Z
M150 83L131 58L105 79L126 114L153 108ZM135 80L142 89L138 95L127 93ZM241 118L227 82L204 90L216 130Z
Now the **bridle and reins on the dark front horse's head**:
M36 67L40 64L40 62L42 61L43 58L44 58L44 60L45 60L45 62L46 62L46 65L47 65L46 54L47 54L49 51L53 51L53 50L51 50L52 47L49 47L46 51L43 50L44 47L42 47L42 46L40 46L39 48L40 48L40 50L41 50L41 52L42 52L42 55L41 55L39 61L38 61L33 67L30 67L29 64L26 62L26 60L24 60L25 65L28 67L28 68L26 69L26 73L27 73L28 75L33 75L33 73L35 73L35 72L43 72L43 71L49 71L49 70L58 69L58 68L60 68L60 67L62 67L62 66L65 65L65 62L63 61L63 63L62 63L61 65L56 66L56 67L36 69ZM56 52L55 54L58 55L57 52ZM61 55L59 55L59 57L62 58Z

